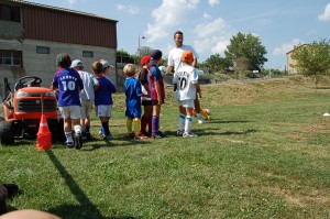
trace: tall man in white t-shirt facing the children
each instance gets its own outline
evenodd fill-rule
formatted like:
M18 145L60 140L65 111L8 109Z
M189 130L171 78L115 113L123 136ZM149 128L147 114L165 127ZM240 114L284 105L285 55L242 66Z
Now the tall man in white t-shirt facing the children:
M174 42L175 42L176 47L172 48L168 53L167 73L175 73L183 65L182 57L183 57L183 53L185 51L193 52L193 54L194 54L193 67L196 67L198 54L190 45L184 44L184 33L180 31L175 32L174 33ZM174 89L176 90L176 86ZM200 92L199 92L199 97L200 97ZM201 123L204 123L204 119L200 114L201 109L200 109L200 103L199 103L199 100L197 97L197 92L196 92L196 99L195 99L194 103L195 103L195 111L196 111L197 118L198 118L198 123L201 124ZM180 110L180 107L179 107L179 110Z

